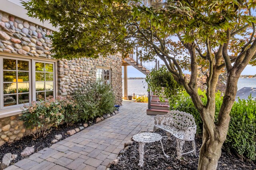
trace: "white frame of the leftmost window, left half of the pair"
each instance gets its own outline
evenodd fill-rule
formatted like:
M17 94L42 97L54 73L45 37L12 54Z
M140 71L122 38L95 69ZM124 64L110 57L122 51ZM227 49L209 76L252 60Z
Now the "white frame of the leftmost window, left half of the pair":
M30 59L24 59L24 58L17 58L17 57L6 57L6 56L1 56L0 57L0 101L1 101L1 110L5 110L5 109L12 109L12 108L17 108L17 107L22 107L24 106L24 104L16 104L13 106L5 106L4 107L4 69L2 68L3 65L3 59L12 59L12 60L20 60L20 61L28 61L28 78L29 78L29 103L32 102L32 79L31 79L31 60ZM17 69L17 65L16 65L16 69ZM17 72L18 70L16 70ZM17 92L18 94L18 92ZM12 94L10 94L12 95ZM16 98L17 102L18 102L18 98ZM28 103L27 103L28 104Z

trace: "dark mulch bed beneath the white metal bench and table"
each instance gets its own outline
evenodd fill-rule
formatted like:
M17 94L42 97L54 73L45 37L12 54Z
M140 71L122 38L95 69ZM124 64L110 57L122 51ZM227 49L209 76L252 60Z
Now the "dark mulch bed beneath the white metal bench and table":
M158 131L162 136L166 136L164 131ZM140 168L138 143L134 142L127 149L124 154L119 156L119 162L116 166L112 165L111 170L195 170L198 167L198 156L194 154L182 155L182 159L176 159L176 139L172 137L169 141L166 137L162 139L164 150L170 158L166 158L162 152L160 142L147 143L144 147L144 166ZM199 149L202 140L197 138L196 154L199 155ZM192 149L191 142L185 142L183 145L183 152ZM255 162L254 162L255 163ZM234 155L222 152L220 160L218 161L218 170L256 170L256 164L253 162L243 162Z

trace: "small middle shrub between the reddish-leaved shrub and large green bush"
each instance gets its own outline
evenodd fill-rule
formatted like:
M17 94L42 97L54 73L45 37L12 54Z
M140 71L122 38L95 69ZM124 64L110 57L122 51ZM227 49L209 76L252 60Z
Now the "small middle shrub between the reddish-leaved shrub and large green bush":
M71 126L79 121L78 104L74 100L64 98L60 101L60 105L63 108L64 122L66 123L66 126Z

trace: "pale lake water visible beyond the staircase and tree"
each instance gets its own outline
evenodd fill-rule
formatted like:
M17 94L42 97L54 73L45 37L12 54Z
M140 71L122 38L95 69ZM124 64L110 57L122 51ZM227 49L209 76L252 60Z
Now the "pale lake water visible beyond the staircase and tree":
M124 80L123 80L124 84ZM140 94L140 95L148 95L147 88L148 84L144 79L140 80L128 80L128 95L132 94ZM243 87L255 87L256 88L256 78L239 78L237 88L238 90ZM124 96L124 86L123 88L123 96Z

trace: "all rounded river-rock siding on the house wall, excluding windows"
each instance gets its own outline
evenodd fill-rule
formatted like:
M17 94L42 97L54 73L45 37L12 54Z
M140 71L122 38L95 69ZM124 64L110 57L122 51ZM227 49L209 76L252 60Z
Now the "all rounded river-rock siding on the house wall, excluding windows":
M52 59L51 41L45 35L52 34L34 23L24 21L0 11L0 51L16 55ZM4 55L2 53L2 55ZM96 67L108 68L116 104L122 104L122 58L114 55L98 59L73 59L58 61L58 95L69 97L88 81L96 80ZM0 146L29 134L19 115L0 118Z

